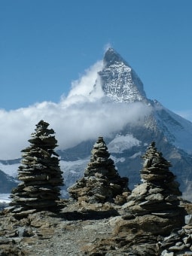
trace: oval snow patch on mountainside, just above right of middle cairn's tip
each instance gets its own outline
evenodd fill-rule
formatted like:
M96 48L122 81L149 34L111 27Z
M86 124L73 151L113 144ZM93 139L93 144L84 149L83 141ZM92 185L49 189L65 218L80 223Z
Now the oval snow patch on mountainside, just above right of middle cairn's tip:
M108 151L110 153L122 153L133 146L139 146L140 143L141 142L134 138L132 134L127 134L126 136L117 134L117 136L108 144Z

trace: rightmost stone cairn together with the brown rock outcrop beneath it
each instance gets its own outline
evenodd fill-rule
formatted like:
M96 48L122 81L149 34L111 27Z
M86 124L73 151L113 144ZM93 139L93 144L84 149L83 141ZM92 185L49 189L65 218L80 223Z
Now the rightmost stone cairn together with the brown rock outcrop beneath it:
M120 255L160 255L159 246L164 237L184 225L186 212L178 197L181 195L178 183L169 171L170 163L157 151L154 142L143 158L143 183L133 189L127 203L121 206L121 216L114 221L113 236L98 242L92 252L99 250L105 251L105 255L115 255L117 251L112 246ZM161 246L165 248L164 243Z

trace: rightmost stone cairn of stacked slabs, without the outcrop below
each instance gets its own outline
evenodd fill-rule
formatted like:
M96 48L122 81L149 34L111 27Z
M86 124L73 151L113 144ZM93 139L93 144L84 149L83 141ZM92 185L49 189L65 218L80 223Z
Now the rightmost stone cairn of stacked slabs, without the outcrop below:
M132 219L133 223L135 218L137 228L146 232L168 235L184 224L185 212L179 206L179 184L169 171L171 164L157 151L155 142L151 142L142 158L143 183L127 197L128 203L123 206L126 212L124 218Z

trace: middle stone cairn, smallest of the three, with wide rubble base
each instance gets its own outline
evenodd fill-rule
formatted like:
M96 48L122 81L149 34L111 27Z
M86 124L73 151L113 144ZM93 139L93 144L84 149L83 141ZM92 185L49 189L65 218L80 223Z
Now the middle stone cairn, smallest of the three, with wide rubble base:
M84 177L69 187L69 195L79 202L114 202L117 195L129 191L128 178L120 178L102 137L99 137L91 153Z

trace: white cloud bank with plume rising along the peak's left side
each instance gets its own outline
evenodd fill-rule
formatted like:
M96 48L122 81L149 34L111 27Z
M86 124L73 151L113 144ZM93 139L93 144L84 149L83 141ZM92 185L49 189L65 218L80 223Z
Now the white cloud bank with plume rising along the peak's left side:
M0 110L0 159L20 158L39 120L50 123L59 147L71 148L87 139L110 136L126 123L137 123L151 108L141 102L130 105L104 100L97 73L102 62L72 82L69 96L59 103L41 102L13 111Z

